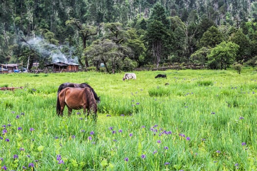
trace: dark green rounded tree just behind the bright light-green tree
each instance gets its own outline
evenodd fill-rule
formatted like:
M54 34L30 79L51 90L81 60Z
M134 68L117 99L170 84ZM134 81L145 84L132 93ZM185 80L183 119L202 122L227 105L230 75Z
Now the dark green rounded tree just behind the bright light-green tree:
M224 40L223 35L215 26L211 26L200 40L199 47L214 47Z

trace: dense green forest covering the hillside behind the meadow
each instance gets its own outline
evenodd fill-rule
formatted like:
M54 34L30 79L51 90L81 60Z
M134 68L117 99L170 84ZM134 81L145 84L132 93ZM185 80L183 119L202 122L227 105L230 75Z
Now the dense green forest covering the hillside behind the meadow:
M256 0L1 0L0 63L107 72L257 63Z

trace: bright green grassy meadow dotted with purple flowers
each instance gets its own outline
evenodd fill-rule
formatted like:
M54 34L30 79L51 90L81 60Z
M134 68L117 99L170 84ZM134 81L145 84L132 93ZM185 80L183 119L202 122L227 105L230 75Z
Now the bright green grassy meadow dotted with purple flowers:
M255 68L135 73L0 75L0 86L23 86L0 91L1 170L257 170ZM96 123L67 107L57 116L65 82L94 88Z

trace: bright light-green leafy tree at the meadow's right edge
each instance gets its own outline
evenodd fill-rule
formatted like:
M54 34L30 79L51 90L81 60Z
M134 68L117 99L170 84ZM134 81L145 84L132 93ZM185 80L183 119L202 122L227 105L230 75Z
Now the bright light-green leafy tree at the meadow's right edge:
M217 44L207 55L208 66L211 69L227 69L230 64L234 63L238 49L239 45L232 42Z

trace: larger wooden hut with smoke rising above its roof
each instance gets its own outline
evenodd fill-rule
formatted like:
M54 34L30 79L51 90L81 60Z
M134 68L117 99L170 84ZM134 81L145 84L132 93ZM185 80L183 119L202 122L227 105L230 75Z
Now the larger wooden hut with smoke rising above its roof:
M78 71L79 64L70 62L58 62L53 64L45 65L51 67L54 72L76 72Z

